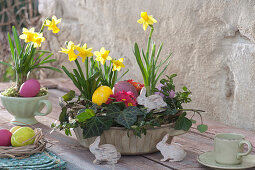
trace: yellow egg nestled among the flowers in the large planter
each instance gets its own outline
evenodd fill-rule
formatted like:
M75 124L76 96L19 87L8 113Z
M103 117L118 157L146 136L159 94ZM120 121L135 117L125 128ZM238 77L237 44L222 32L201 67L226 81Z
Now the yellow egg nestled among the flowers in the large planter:
M110 95L112 94L112 89L108 86L100 86L98 87L92 96L92 102L101 106L105 103Z

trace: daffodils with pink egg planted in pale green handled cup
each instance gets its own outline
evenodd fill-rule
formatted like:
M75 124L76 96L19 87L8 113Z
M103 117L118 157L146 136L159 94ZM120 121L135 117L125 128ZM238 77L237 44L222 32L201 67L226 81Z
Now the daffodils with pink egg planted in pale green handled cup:
M55 62L52 53L40 50L45 41L43 31L45 27L58 33L57 24L61 19L53 16L46 19L39 32L35 28L23 28L19 36L15 27L12 27L12 36L8 33L8 40L11 52L11 62L0 61L0 64L11 67L16 73L16 84L1 92L0 98L6 110L14 116L12 123L16 125L36 124L35 116L47 115L51 112L51 103L47 100L47 89L42 88L35 79L29 79L29 74L38 69L50 69L60 72L58 68L46 64ZM46 113L41 113L44 106L47 106Z

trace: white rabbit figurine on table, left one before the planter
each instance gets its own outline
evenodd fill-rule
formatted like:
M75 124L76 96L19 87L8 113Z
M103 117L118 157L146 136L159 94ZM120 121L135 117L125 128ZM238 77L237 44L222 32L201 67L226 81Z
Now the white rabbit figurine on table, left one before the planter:
M96 138L94 143L89 146L89 150L93 153L96 159L93 161L94 164L100 164L106 162L107 164L116 164L120 159L121 155L117 152L115 146L111 144L100 145L100 136Z

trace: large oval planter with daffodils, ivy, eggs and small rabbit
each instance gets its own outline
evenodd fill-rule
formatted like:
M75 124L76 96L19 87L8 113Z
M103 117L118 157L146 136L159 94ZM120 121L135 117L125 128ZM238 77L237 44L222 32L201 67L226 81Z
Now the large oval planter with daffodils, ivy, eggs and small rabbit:
M143 83L130 78L120 81L126 74L118 76L125 67L124 59L110 57L110 51L103 47L93 55L86 44L81 47L69 41L67 48L60 51L68 54L77 66L72 72L64 66L62 69L80 94L75 97L74 91L70 91L61 98L60 123L53 123L52 127L64 130L66 135L71 135L73 128L85 147L94 142L96 136L101 136L102 143L113 144L124 155L156 152L156 144L165 134L171 136L171 142L174 136L187 132L195 123L192 117L187 117L187 111L200 116L203 112L184 109L183 105L191 102L190 90L183 87L176 91L173 81L176 74L164 76L171 55L161 59L163 45L156 51L156 44L152 42L153 24L157 21L142 12L137 22L143 25L144 31L150 28L147 49L140 50L137 43L133 49ZM78 57L83 59L85 73ZM202 117L197 129L207 130Z

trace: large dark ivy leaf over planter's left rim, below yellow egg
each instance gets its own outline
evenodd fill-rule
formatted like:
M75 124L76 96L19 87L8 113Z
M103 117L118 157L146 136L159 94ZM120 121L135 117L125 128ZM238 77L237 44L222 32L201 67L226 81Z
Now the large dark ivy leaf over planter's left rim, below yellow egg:
M112 119L105 116L94 116L88 119L83 126L83 137L86 139L94 136L100 136L104 130L110 129L112 123Z

